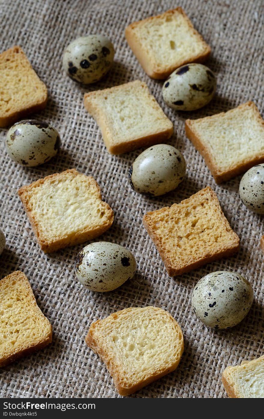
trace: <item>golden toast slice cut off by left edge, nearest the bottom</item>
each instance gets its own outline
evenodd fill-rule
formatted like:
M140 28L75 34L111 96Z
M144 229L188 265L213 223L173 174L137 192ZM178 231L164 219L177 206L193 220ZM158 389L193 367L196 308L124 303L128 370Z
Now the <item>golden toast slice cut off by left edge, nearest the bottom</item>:
M0 367L52 341L51 324L37 306L23 272L0 280L0 325Z

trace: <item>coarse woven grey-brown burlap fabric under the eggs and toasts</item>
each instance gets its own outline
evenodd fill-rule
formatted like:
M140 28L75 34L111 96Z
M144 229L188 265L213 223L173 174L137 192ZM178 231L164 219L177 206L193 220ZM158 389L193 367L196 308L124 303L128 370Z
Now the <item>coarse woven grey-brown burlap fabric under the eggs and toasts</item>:
M221 374L263 354L262 218L240 201L240 177L217 186L203 158L186 138L184 121L226 111L253 100L263 114L264 3L256 1L19 1L1 0L0 49L21 45L49 91L47 108L37 118L50 122L62 138L62 150L44 166L24 168L5 153L1 132L1 228L7 246L0 277L20 269L29 278L37 303L53 327L52 344L1 370L2 397L120 397L105 364L84 343L91 322L130 306L155 305L168 310L183 329L185 350L179 367L132 397L226 397ZM212 47L207 65L217 75L217 94L204 109L177 113L162 101L162 82L151 80L125 41L125 27L136 20L181 5ZM115 64L96 85L82 88L62 69L62 52L73 39L101 33L115 45ZM148 198L132 191L128 167L142 150L112 156L99 128L84 109L86 91L131 80L144 80L173 121L171 145L183 152L187 176L175 191ZM115 221L98 240L127 246L138 262L137 274L113 292L93 293L77 282L74 261L83 245L51 255L40 251L17 191L22 185L67 168L93 175ZM210 185L232 228L241 238L238 254L176 278L168 277L155 246L142 226L146 211L180 202ZM88 244L88 243L86 243ZM240 325L226 331L208 329L191 309L196 282L216 270L235 270L254 287L254 303Z

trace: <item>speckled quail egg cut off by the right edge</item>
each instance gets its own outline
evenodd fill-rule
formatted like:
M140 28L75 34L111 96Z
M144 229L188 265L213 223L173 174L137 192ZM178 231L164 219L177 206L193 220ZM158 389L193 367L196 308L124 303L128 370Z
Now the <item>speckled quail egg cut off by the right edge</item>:
M239 195L243 204L258 214L264 214L264 164L251 167L239 185Z

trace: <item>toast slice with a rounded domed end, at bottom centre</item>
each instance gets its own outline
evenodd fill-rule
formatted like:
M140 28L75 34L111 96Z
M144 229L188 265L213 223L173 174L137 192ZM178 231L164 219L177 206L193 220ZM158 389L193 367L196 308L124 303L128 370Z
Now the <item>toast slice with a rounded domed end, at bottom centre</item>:
M183 333L157 307L125 308L92 323L86 344L102 358L121 396L128 396L175 370Z

